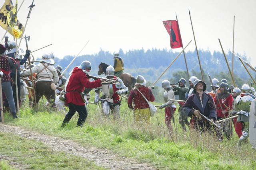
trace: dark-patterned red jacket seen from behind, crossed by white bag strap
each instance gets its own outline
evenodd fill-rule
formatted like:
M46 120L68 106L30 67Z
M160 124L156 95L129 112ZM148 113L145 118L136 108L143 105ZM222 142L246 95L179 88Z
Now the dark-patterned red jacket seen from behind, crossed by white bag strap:
M145 98L148 100L148 102L154 102L155 97L150 88L140 86L138 89L145 96ZM127 102L129 108L133 108L132 107L132 99L134 100L134 109L149 108L148 102L145 100L145 98L141 95L140 92L138 90L131 91L129 98L128 98L128 102Z

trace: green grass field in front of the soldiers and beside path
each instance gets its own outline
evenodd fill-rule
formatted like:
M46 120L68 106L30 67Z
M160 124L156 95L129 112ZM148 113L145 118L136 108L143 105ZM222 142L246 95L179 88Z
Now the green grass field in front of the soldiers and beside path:
M93 99L90 101L93 101ZM154 104L159 105L158 103ZM179 106L177 106L175 112L175 125L172 123L174 135L170 136L164 123L164 109L158 109L158 113L151 119L150 127L145 127L134 123L133 112L128 109L127 102L124 99L120 109L120 119L116 121L112 119L111 115L109 119L102 117L98 111L98 106L89 104L87 107L88 117L82 128L76 127L77 113L66 127L61 128L61 123L67 111L55 111L45 107L42 101L40 101L39 105L38 112L28 107L22 107L20 109L20 119L13 120L5 113L4 121L8 125L20 126L55 137L72 139L80 145L90 145L98 148L106 147L106 149L112 150L113 153L120 157L126 156L140 162L148 162L154 168L160 170L256 169L255 150L252 149L249 143L244 143L241 147L237 147L238 137L235 131L232 139L227 141L226 137L224 137L221 142L209 133L198 134L192 130L183 132L178 123ZM1 152L10 154L10 150L3 147L10 142L7 139L2 140L6 135L1 134L0 137ZM24 139L18 139L16 136L11 136L11 138L11 141L22 141L21 147L31 143L23 141ZM30 145L28 150L33 150L35 147L38 147L38 149L34 149L34 152L50 152L42 143ZM76 161L81 158L74 158L69 162L62 161L58 165L52 163L54 160L63 159L63 153L60 152L52 158L45 158L42 166L38 165L40 162L30 162L28 157L24 161L28 162L32 169L49 169L48 167L59 169L68 164L74 166ZM90 161L84 160L84 164L91 166L92 164L88 162ZM88 168L91 168L90 166Z

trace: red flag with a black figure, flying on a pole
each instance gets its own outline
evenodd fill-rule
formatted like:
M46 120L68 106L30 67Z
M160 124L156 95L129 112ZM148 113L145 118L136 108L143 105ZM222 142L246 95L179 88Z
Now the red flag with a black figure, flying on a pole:
M179 23L176 20L163 21L164 27L170 35L171 48L176 49L183 47L180 36Z

